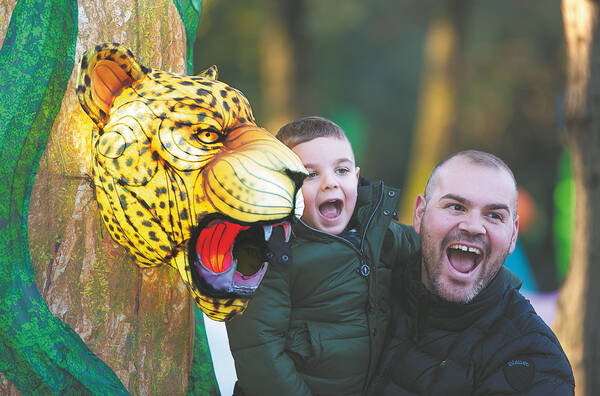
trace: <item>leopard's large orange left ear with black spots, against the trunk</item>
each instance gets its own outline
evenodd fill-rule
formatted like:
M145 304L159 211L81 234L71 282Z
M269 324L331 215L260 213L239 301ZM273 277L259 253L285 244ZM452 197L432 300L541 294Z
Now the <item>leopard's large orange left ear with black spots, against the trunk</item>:
M110 119L114 99L142 80L150 69L140 65L120 44L102 44L87 50L77 71L77 97L83 110L99 127Z

